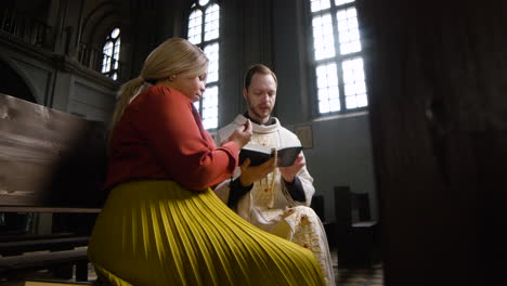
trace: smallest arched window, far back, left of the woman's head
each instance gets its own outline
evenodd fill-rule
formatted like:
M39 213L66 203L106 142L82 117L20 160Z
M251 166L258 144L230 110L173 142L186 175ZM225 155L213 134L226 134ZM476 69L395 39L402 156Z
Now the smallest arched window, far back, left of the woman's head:
M102 69L101 73L112 79L118 79L119 70L119 49L120 49L120 29L114 28L109 35L107 35L102 48Z

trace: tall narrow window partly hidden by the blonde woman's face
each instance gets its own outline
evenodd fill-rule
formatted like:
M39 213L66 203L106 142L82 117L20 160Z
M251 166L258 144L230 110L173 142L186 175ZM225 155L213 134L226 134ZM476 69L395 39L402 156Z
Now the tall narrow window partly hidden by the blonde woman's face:
M203 49L209 58L208 78L203 99L195 107L206 129L218 128L219 67L220 67L220 6L217 1L198 0L188 16L187 39Z

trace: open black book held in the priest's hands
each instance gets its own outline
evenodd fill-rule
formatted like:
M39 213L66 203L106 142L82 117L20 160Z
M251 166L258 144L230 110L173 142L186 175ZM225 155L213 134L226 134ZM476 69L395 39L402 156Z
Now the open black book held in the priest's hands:
M250 166L259 166L274 156L274 147L262 145L248 145L239 152L239 165L250 158ZM278 167L288 167L294 164L302 146L290 146L277 150Z

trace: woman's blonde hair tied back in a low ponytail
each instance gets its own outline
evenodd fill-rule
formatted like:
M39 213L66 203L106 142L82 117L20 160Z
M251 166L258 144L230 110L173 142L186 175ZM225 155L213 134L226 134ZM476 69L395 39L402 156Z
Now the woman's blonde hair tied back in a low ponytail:
M118 91L118 101L113 113L110 131L121 119L127 106L143 92L150 83L164 80L183 72L197 77L208 70L208 58L197 46L181 38L171 38L160 43L144 61L138 78L123 83ZM150 83L148 83L150 82Z

